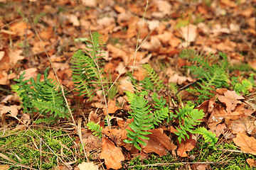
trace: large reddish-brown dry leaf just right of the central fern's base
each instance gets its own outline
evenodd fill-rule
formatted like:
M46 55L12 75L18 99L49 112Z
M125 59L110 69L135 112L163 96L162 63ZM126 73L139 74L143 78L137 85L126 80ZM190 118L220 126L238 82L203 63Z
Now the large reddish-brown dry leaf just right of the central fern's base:
M176 149L176 146L170 142L169 137L164 134L164 130L162 128L148 130L148 132L151 132L152 134L146 135L146 137L149 137L149 140L143 140L146 142L146 146L142 146L144 152L155 152L162 157L166 155L166 149Z

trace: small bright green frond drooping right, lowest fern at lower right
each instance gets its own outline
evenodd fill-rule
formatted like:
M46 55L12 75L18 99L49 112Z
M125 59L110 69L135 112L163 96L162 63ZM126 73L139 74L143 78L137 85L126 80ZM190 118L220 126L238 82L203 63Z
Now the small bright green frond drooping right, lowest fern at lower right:
M203 138L205 139L204 142L210 142L209 146L213 146L213 148L215 148L214 145L215 145L215 143L218 142L218 137L216 137L215 133L209 132L204 127L200 127L200 128L197 128L196 130L193 130L193 133L203 135Z

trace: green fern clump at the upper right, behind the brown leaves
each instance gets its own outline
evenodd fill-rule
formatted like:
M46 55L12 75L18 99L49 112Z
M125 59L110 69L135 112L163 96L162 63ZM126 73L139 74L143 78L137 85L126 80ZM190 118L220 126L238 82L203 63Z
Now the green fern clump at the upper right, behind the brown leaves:
M194 89L188 89L189 92L198 94L198 103L212 98L214 94L211 91L228 86L228 57L222 52L219 55L220 58L216 59L213 55L206 57L200 55L195 50L181 51L181 58L188 59L192 63L188 69L200 80L198 86L195 86Z

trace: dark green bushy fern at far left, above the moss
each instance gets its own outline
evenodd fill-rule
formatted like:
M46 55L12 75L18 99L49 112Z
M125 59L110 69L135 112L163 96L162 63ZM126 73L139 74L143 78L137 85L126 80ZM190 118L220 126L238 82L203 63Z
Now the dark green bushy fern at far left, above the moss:
M18 84L12 86L14 92L20 96L25 113L41 112L44 118L39 118L35 123L54 123L58 118L68 118L68 109L65 106L63 94L60 86L53 79L48 79L48 69L44 72L44 80L41 81L41 74L38 74L36 80L25 79L24 74L16 79ZM31 84L28 84L28 82ZM33 87L33 88L31 88Z

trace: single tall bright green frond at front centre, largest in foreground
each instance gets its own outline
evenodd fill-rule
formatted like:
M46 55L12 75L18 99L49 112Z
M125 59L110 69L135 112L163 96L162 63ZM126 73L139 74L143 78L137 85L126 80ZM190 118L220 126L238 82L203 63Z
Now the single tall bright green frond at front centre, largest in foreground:
M148 105L148 101L146 101L144 96L137 96L129 92L127 96L129 96L129 103L131 103L132 108L132 112L129 112L129 114L132 115L134 121L129 124L129 128L133 131L127 130L127 137L130 140L124 140L124 142L132 144L141 150L142 148L139 147L139 144L146 146L146 143L141 139L149 140L149 137L145 137L145 135L149 135L151 132L146 132L146 130L153 128L153 118L151 113L149 113L151 111L150 105Z

